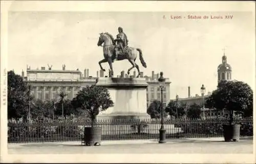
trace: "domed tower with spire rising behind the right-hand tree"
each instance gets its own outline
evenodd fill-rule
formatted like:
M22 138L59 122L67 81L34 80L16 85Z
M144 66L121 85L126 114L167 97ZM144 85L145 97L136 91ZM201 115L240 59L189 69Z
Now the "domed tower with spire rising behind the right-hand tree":
M222 57L222 64L218 66L218 83L222 80L231 80L231 66L227 64L227 57L225 56L225 51Z

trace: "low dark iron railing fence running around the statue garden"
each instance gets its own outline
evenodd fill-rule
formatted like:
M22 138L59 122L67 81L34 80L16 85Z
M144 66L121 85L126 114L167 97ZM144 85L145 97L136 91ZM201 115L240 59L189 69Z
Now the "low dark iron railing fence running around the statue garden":
M253 119L237 119L240 135L253 135ZM227 120L164 120L166 138L202 138L223 135ZM8 143L81 141L89 120L48 120L37 122L9 122ZM158 139L160 120L129 119L101 120L102 140Z

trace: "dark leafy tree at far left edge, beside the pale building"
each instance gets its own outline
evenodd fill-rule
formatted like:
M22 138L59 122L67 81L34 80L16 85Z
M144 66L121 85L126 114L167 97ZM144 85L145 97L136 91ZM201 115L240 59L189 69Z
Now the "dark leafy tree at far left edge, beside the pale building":
M28 86L23 77L8 71L8 119L28 114Z

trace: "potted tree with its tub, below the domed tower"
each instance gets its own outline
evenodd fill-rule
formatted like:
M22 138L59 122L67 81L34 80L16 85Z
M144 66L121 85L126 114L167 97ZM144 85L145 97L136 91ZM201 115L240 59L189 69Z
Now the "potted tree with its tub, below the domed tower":
M207 107L228 111L228 124L223 125L226 142L239 141L240 124L234 121L234 111L242 113L252 106L252 90L242 81L221 81L206 101ZM252 108L251 108L252 110Z

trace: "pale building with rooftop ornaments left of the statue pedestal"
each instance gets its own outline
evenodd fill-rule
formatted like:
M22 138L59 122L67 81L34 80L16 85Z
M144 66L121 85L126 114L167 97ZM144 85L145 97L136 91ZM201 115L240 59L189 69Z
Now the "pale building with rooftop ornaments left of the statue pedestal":
M96 77L88 77L89 69L84 70L84 77L81 74L79 70L66 70L65 66L62 70L41 67L40 70L27 69L25 79L35 99L56 100L60 91L65 91L67 98L72 99L82 87L95 84Z

